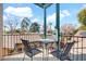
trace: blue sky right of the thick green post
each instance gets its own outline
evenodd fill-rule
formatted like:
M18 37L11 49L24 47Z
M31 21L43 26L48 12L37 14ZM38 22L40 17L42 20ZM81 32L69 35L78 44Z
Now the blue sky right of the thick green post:
M78 27L79 23L77 14L82 9L85 9L85 3L62 3L60 4L60 24L73 24Z

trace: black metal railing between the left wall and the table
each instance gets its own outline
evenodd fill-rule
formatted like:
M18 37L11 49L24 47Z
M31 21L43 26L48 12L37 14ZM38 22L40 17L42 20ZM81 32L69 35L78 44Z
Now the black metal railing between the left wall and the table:
M3 52L2 56L15 54L13 53L15 44L19 44L17 48L22 44L21 38L26 40L37 40L40 38L38 34L25 34L25 35L3 35Z

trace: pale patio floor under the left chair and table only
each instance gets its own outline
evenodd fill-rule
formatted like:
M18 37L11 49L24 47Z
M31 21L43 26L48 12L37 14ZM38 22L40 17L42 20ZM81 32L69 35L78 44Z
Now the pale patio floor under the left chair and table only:
M9 55L9 56L4 56L3 61L23 61L23 56L24 56L24 53ZM25 55L24 61L30 61L30 57ZM39 53L33 57L33 61L47 61L47 57L44 57L44 60L42 60L42 53ZM52 56L51 54L49 54L48 61L59 61L59 60L57 57Z

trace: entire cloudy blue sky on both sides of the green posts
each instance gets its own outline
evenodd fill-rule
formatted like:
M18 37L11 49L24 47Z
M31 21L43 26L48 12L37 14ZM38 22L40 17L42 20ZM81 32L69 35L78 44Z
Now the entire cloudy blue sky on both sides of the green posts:
M78 12L86 8L85 3L61 3L60 4L60 26L64 24L73 24L78 27L77 21ZM28 17L32 23L37 22L44 25L44 10L33 3L4 3L3 4L3 25L8 25L8 21L14 18L19 23L17 28L23 17ZM56 4L47 9L47 25L52 23L56 25Z

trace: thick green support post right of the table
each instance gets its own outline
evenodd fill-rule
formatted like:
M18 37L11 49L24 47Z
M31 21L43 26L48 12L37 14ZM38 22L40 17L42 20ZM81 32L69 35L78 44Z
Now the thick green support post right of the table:
M60 7L59 3L56 3L56 28L57 28L57 47L60 50Z

